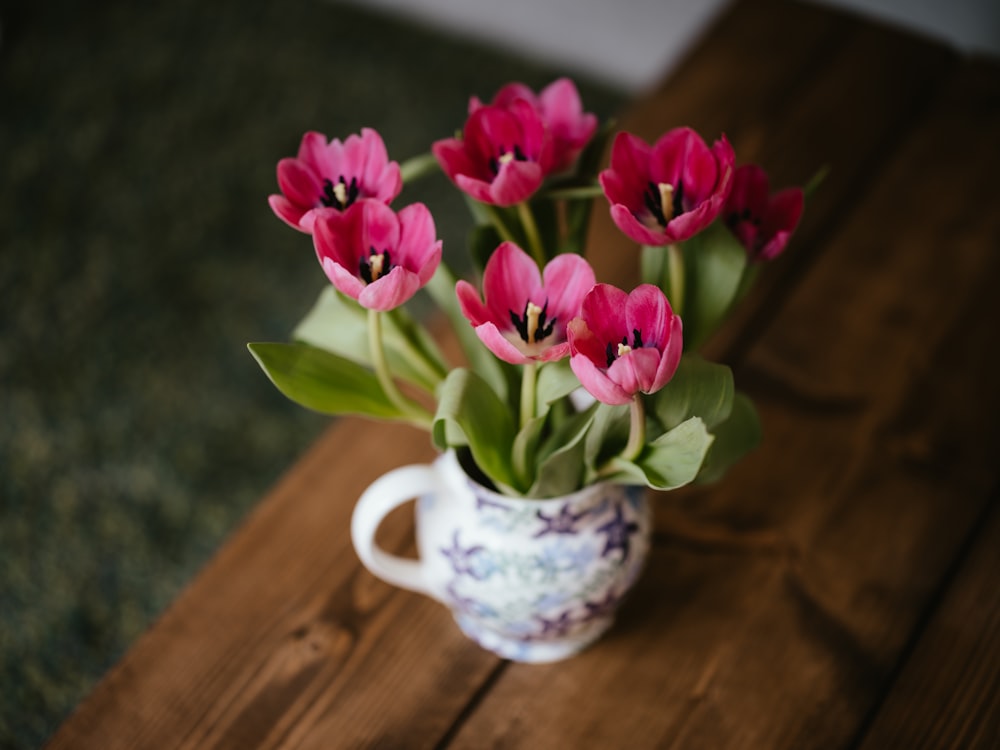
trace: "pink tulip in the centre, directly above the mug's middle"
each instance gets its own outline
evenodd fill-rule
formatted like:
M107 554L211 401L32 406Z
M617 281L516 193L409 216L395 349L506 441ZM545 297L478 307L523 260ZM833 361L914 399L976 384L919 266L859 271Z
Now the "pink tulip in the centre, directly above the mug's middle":
M483 272L484 300L467 281L455 286L462 314L497 357L515 365L550 362L569 354L566 324L580 313L594 286L594 271L579 255L538 265L513 242L490 256Z

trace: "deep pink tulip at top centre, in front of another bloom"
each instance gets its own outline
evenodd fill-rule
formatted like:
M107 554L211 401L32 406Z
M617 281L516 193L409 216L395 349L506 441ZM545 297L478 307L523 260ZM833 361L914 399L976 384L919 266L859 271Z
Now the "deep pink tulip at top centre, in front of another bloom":
M553 167L552 136L523 99L479 107L461 138L436 141L432 151L460 190L496 206L530 198Z

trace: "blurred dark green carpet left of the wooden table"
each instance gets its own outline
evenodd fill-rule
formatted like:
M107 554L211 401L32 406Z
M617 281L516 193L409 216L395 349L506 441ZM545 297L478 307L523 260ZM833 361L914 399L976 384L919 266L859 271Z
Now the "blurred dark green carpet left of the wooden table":
M0 5L0 747L37 747L326 418L245 350L325 278L267 207L301 134L396 159L542 69L320 0ZM602 116L623 95L580 81ZM443 177L407 187L446 253ZM345 532L346 533L346 532Z

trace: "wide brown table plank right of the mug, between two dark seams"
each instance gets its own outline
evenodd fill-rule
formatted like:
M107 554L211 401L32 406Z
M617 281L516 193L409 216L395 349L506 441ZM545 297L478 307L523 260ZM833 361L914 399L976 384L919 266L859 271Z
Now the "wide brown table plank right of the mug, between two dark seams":
M622 630L508 667L455 747L852 741L997 482L998 96L963 67L747 356L767 440L681 506L719 533L664 537Z

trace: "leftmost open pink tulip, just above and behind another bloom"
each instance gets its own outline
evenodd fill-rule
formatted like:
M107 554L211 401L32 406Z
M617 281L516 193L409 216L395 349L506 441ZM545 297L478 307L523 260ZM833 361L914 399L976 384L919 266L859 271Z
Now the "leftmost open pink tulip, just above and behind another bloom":
M282 194L268 198L271 210L289 226L311 233L320 213L344 211L363 198L391 203L403 179L382 137L364 128L343 143L306 133L298 156L278 162L278 186Z

